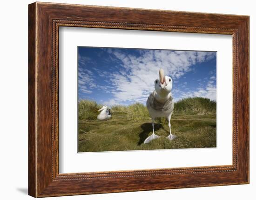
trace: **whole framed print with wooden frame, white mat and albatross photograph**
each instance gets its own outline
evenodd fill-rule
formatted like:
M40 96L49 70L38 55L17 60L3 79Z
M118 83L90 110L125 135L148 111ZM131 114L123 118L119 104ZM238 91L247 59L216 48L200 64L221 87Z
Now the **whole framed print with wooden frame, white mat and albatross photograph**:
M29 5L29 195L249 183L249 17Z

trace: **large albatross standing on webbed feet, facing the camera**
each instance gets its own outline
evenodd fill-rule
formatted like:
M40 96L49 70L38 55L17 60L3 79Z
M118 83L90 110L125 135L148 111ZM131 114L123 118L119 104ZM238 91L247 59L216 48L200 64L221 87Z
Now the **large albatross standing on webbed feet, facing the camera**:
M176 136L171 132L171 116L174 109L174 102L171 97L172 78L164 76L163 69L159 70L159 79L155 80L155 90L149 95L147 100L147 108L149 116L152 119L153 133L148 136L144 144L160 137L154 133L154 122L156 117L166 117L170 134L167 136L169 140L173 140Z

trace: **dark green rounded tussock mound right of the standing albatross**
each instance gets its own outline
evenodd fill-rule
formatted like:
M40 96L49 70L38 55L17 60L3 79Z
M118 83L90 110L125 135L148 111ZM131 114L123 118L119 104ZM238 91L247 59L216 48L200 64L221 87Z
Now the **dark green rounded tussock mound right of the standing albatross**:
M175 103L174 113L186 115L215 115L216 101L202 97L185 98Z

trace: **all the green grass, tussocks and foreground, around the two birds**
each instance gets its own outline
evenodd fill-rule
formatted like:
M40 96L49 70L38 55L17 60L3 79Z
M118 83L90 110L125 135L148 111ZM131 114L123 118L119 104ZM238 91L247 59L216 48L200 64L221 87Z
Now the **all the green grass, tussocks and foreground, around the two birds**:
M216 147L216 102L206 98L187 98L175 103L171 119L172 134L169 141L168 123L160 118L155 123L155 134L163 137L144 144L152 134L151 119L146 106L112 106L108 121L97 120L102 105L82 100L79 102L79 152L121 151L171 148Z

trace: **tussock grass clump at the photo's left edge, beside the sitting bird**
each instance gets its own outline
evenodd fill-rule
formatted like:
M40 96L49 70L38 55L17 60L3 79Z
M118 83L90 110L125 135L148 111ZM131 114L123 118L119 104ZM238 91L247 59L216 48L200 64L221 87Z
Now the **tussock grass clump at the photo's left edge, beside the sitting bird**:
M97 119L98 110L102 105L95 101L81 100L78 102L78 119L79 120L95 120Z

